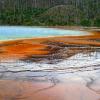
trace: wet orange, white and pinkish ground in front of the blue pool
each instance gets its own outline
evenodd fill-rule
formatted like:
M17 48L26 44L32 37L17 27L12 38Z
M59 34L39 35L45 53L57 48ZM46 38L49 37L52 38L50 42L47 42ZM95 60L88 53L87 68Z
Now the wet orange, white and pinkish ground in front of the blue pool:
M0 100L100 100L100 33L0 42Z

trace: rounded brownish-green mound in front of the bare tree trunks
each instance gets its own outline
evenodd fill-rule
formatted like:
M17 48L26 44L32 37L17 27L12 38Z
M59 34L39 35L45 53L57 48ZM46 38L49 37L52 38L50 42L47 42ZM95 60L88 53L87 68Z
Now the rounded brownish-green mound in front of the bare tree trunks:
M79 25L81 18L81 11L72 5L52 7L40 17L47 25Z

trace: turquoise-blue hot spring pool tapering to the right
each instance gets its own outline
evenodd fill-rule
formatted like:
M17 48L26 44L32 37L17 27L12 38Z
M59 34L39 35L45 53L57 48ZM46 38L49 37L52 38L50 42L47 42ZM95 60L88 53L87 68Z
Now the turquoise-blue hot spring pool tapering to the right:
M0 40L14 40L32 37L49 37L49 36L78 36L88 35L88 32L39 28L39 27L18 27L18 26L0 26Z

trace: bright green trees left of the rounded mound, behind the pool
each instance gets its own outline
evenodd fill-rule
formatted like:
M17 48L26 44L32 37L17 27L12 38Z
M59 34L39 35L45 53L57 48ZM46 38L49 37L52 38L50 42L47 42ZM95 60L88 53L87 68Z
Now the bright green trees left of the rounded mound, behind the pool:
M43 13L45 9L34 8L27 10L2 10L0 14L1 25L39 25L38 15Z

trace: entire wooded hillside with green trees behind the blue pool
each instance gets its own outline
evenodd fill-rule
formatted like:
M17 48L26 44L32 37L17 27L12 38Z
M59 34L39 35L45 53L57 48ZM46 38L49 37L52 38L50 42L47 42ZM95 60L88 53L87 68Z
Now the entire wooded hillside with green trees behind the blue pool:
M1 0L0 25L100 27L100 0Z

